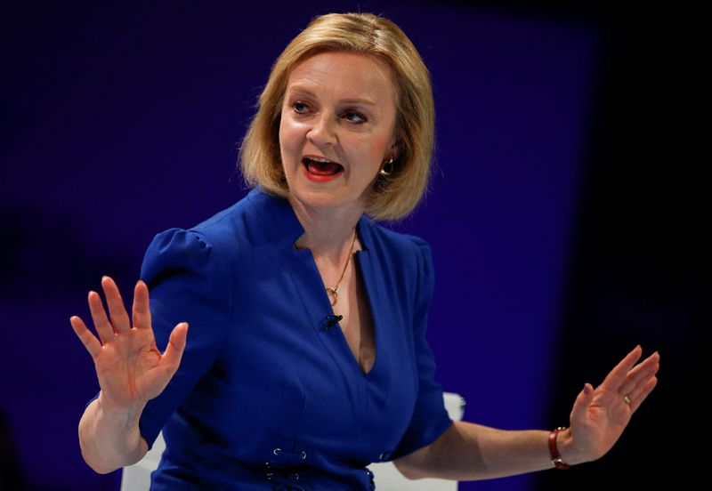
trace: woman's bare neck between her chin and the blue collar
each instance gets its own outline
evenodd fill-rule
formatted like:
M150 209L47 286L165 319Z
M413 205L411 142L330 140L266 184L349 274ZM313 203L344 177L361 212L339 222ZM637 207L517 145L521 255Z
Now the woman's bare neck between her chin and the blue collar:
M304 229L295 245L300 249L310 249L314 256L328 257L336 263L342 263L344 250L352 246L354 229L363 210L312 208L303 205L295 197L290 196L288 199ZM358 249L357 240L354 251Z

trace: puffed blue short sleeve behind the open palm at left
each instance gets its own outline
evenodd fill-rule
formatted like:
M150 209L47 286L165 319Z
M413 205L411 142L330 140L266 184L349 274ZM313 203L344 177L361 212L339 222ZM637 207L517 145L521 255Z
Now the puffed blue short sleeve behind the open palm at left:
M139 421L149 447L169 417L210 370L226 345L231 320L231 275L217 251L198 232L169 229L156 236L143 260L158 350L180 322L188 322L181 365L166 389L151 399Z

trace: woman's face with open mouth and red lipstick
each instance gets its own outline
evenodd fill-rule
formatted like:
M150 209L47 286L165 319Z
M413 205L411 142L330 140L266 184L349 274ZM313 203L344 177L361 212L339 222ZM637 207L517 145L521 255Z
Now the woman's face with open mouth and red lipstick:
M322 52L293 68L279 124L290 198L361 213L384 161L397 157L395 88L373 57Z

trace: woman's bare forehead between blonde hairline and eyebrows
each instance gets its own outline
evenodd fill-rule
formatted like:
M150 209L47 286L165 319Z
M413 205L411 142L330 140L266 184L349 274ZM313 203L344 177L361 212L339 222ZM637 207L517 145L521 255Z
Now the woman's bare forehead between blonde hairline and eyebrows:
M306 89L336 99L369 99L395 103L391 69L373 56L320 52L300 61L289 74L287 92Z

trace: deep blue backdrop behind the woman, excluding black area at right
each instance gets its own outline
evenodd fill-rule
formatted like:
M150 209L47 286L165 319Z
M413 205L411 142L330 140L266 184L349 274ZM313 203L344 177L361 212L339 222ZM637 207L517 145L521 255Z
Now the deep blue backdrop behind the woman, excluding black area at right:
M594 24L462 3L29 4L4 20L0 154L0 411L28 488L117 488L116 473L97 476L79 454L77 422L97 383L69 316L86 318L103 274L128 296L155 233L244 196L237 149L272 61L312 16L353 10L398 23L432 71L432 190L393 227L433 246L428 339L465 419L565 424L583 382L643 341L642 329L611 337L613 354L575 389L553 386L599 134L607 38ZM568 401L556 417L555 390Z

